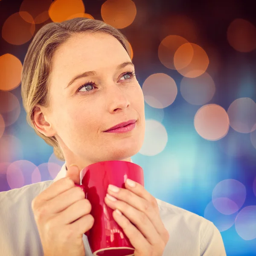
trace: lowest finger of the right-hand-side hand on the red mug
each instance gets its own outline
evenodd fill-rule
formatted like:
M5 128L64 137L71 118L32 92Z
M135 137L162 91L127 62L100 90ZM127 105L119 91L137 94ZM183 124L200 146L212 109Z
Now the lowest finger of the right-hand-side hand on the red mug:
M119 211L120 212L120 211ZM121 212L122 214L122 212ZM119 215L118 212L113 211L113 218L116 223L122 228L125 235L130 240L132 246L134 248L143 248L143 251L137 251L137 255L150 255L150 247L151 245L145 239L143 234L135 227L131 221L125 217L125 215ZM135 249L139 250L139 249Z

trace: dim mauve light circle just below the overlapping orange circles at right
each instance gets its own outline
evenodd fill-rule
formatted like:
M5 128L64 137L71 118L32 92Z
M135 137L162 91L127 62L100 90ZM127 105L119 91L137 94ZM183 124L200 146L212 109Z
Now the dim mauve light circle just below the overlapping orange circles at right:
M204 105L215 94L215 83L207 73L195 78L183 77L180 82L180 93L192 105Z

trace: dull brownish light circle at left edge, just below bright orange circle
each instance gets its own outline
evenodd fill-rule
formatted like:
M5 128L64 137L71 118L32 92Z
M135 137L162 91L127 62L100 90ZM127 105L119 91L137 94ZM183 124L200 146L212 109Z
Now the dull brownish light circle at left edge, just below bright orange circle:
M20 102L17 97L8 92L0 90L0 114L5 126L12 125L20 116Z

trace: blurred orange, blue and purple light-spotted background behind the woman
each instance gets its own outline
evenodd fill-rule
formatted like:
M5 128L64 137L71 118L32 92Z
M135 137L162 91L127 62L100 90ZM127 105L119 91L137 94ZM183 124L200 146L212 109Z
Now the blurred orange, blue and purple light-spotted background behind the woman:
M128 39L145 97L132 157L154 197L212 221L228 256L256 255L256 15L238 0L0 0L0 191L63 161L26 122L20 76L47 23L103 20Z

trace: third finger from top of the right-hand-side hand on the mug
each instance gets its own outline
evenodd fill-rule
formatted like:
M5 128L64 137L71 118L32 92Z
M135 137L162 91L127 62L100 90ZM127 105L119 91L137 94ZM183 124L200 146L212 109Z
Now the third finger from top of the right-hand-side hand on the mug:
M108 194L107 197L105 197L105 203L111 207L111 209L119 209L123 215L125 215L125 217L128 218L129 221L131 221L131 223L133 223L138 230L140 230L140 232L150 244L156 244L160 240L160 236L157 233L157 230L144 212L135 209L124 201L111 201L108 198Z

